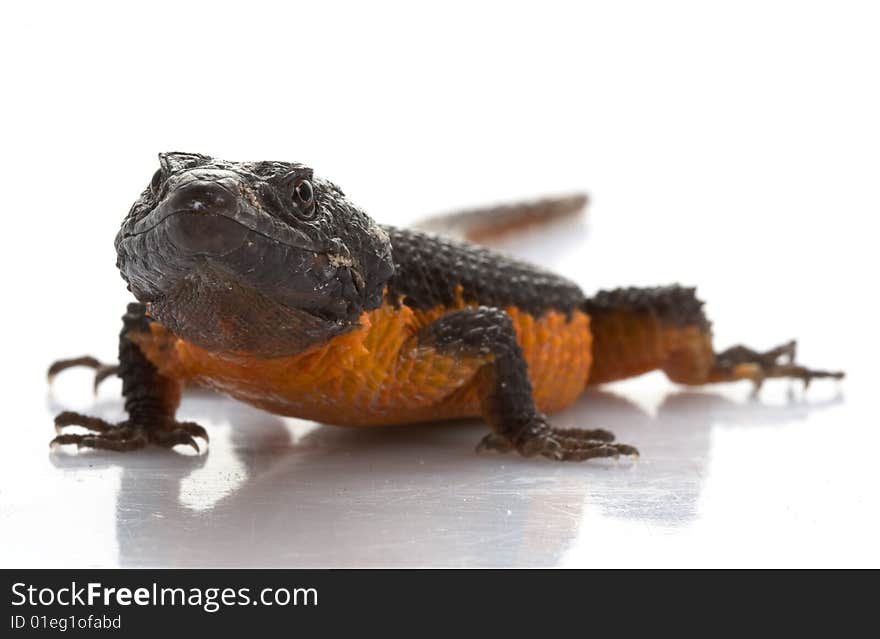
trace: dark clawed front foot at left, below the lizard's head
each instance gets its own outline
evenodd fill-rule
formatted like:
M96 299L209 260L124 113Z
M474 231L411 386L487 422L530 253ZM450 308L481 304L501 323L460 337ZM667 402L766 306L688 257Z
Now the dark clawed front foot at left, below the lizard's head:
M79 426L93 434L65 433L65 427ZM156 424L138 424L130 420L111 424L97 417L65 411L55 418L55 431L58 436L50 442L55 448L59 445L76 444L77 448L96 448L125 452L144 448L148 444L173 448L177 445L190 446L196 453L201 452L195 438L208 442L207 431L195 422L178 422L173 419L161 420Z

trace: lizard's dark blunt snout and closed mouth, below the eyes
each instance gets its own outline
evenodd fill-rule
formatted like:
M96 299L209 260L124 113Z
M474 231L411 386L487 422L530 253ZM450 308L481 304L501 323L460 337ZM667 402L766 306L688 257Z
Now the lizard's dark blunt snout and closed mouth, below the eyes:
M143 302L181 287L210 297L231 282L334 321L356 318L364 305L364 279L345 247L322 246L285 224L234 175L176 186L120 233L117 250L120 269Z

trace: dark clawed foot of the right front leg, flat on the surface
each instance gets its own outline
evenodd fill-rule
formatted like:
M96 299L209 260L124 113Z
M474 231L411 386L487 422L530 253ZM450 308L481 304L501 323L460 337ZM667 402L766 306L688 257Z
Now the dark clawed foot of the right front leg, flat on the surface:
M557 461L584 461L597 457L621 455L638 457L639 451L627 444L616 444L614 435L607 430L583 430L579 428L553 428L543 415L511 440L498 433L490 433L477 446L477 451L519 451L524 457L541 455Z

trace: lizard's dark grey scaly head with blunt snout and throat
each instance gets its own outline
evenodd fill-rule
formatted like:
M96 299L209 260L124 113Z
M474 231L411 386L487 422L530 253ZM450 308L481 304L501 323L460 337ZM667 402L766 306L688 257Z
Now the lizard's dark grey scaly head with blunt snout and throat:
M215 351L291 354L382 302L387 234L310 168L163 153L116 237L150 314Z

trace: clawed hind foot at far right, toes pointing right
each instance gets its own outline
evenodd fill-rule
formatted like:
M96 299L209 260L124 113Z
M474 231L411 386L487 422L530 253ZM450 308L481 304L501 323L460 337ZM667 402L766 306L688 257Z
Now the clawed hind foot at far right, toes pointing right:
M823 371L795 364L797 342L792 340L769 351L758 352L746 346L734 346L716 355L716 370L721 379L750 379L755 392L761 389L765 379L786 377L800 379L808 388L814 379L843 379L842 371Z

